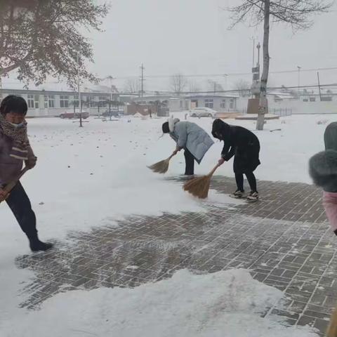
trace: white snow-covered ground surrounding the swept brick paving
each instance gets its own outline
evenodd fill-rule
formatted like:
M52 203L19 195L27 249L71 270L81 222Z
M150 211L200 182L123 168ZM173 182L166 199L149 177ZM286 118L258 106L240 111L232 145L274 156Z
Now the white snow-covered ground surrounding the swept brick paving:
M178 115L183 119L183 114ZM335 119L335 115L296 115L267 121L265 131L256 132L262 162L257 178L310 183L308 159L324 148L324 128ZM211 132L211 119L190 120ZM164 121L132 118L131 122L103 122L91 118L79 128L68 120L29 120L30 140L39 159L37 167L22 178L22 184L37 213L41 239L66 239L69 231L114 225L131 214L203 212L205 202L234 206L236 201L213 191L208 201L193 199L177 183L147 169L147 165L169 157L175 147L169 136L159 138ZM228 122L255 128L253 121ZM273 131L276 129L281 131ZM213 145L196 173L208 173L221 149L222 143ZM180 175L183 169L181 153L172 159L166 176ZM224 164L217 174L233 176L232 163ZM20 284L34 275L14 265L15 256L29 253L27 239L6 205L0 207L0 218L0 331L5 331L1 336L33 336L27 327L37 322L44 323L34 336L45 336L46 331L49 336L86 336L80 332L81 326L91 331L91 336L315 336L284 328L271 319L259 319L258 312L282 293L252 283L242 271L202 276L181 271L173 279L133 290L59 294L46 301L41 311L27 313L18 308L25 296L19 296L18 291ZM242 282L246 282L244 286ZM196 298L194 294L202 293L201 289L205 293ZM238 297L228 303L233 293ZM72 313L62 314L62 306L71 308ZM136 317L132 323L131 317ZM160 326L155 324L156 317ZM55 322L63 324L53 333L48 328ZM102 331L92 331L92 325L102 326ZM136 333L138 328L144 335Z

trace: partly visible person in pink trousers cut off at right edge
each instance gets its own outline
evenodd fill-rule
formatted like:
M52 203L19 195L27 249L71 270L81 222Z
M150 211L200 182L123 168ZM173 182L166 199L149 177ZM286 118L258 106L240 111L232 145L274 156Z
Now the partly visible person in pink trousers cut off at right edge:
M323 189L323 206L333 232L337 235L337 122L326 127L325 151L309 160L309 173L315 185Z

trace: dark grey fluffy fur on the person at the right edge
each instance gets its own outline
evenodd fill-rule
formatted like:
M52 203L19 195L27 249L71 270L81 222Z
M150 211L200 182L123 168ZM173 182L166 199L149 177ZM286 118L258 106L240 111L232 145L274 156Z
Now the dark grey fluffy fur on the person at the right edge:
M315 185L337 192L337 151L318 152L309 160L309 173Z

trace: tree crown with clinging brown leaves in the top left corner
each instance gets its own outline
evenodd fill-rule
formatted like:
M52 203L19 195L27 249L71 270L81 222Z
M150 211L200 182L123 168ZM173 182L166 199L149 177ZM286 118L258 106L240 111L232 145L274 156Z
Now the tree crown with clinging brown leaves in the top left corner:
M107 4L93 0L1 0L0 76L16 70L18 79L42 84L48 75L95 81L84 66L93 60L85 28L100 31Z

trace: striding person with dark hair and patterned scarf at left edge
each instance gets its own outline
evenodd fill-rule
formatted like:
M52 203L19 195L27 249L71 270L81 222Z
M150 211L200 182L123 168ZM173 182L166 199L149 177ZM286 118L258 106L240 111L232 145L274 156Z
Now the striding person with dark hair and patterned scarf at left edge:
M0 105L0 202L6 200L29 239L30 249L46 251L53 245L39 240L37 219L29 198L18 181L24 161L27 169L33 169L37 163L27 137L27 109L26 101L15 95L7 96ZM13 189L7 191L6 187L12 184Z

